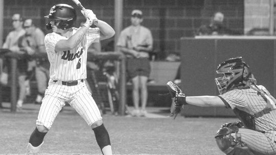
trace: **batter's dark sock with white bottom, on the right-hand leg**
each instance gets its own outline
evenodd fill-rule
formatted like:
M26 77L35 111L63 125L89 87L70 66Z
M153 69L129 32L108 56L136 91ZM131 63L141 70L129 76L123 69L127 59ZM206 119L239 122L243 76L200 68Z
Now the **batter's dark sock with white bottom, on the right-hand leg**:
M104 124L93 128L93 131L95 133L96 141L100 146L103 154L112 154L111 146L108 146L110 145L109 135L106 131L106 128L104 127Z

